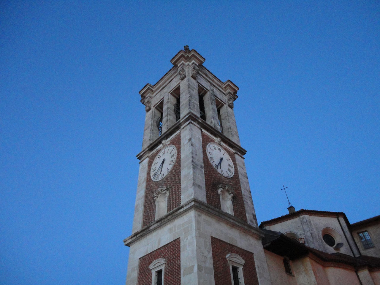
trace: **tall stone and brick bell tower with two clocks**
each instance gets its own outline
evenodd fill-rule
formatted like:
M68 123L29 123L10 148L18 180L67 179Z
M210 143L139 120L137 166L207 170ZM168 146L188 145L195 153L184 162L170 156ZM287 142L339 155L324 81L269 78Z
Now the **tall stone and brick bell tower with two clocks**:
M185 46L146 117L127 285L270 284L234 117L239 88Z

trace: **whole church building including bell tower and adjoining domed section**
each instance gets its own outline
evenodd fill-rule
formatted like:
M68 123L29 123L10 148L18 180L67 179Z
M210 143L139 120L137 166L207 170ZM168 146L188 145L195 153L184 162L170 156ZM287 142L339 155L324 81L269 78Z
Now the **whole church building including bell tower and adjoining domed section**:
M139 92L146 117L126 284L380 285L379 217L355 232L344 213L293 208L258 225L233 109L239 88L204 61L185 46ZM358 246L368 237L372 254Z

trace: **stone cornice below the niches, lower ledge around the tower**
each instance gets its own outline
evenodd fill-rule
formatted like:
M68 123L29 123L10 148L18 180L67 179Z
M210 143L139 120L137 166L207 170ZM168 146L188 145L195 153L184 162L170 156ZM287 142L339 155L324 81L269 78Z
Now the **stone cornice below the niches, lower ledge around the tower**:
M198 199L193 198L187 201L185 204L182 204L176 209L173 209L172 211L168 212L168 214L159 218L158 220L146 226L145 228L142 228L141 230L124 239L124 245L130 246L131 244L139 241L140 239L152 233L153 231L162 228L169 222L181 217L182 215L185 215L193 209L199 212L203 212L204 214L209 215L215 218L216 220L219 220L220 222L231 225L234 228L238 228L239 230L252 236L255 236L256 238L262 239L264 237L263 232L259 228L251 226L233 215L227 214L226 212L223 212L220 209L212 207L209 204L206 204Z

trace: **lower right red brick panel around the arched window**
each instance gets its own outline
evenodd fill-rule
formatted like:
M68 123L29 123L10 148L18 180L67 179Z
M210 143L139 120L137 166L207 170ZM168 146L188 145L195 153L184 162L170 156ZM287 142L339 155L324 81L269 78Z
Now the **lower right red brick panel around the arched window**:
M214 263L215 285L231 285L230 264L226 255L236 253L240 255L245 264L243 266L243 277L245 285L258 285L257 272L253 253L241 249L235 245L211 237L212 262Z

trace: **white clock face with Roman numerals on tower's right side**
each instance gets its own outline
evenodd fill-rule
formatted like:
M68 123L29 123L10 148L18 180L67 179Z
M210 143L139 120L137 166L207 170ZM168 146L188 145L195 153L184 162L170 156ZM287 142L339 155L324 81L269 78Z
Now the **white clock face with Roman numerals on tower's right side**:
M220 174L227 178L234 176L234 163L223 147L215 142L210 142L207 144L206 153L209 161Z

